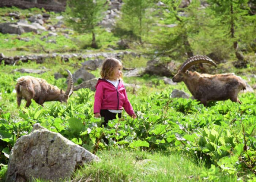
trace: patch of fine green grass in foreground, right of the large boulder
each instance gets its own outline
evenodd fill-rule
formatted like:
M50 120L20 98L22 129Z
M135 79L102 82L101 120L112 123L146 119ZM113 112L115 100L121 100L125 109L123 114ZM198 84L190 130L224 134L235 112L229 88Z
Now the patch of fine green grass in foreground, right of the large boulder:
M112 149L97 155L101 161L78 170L74 181L198 181L206 171L202 163L197 165L192 158L175 152Z

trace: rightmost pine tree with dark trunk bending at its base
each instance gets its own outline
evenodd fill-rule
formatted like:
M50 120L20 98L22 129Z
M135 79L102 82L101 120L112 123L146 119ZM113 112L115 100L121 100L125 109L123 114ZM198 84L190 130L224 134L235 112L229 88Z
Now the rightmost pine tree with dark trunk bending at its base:
M238 63L240 66L246 67L247 61L238 44L239 42L248 44L248 39L245 40L243 37L246 37L246 34L253 35L251 31L255 28L256 19L255 16L250 15L248 0L208 0L207 2L210 5L207 12L214 15L214 19L218 19L211 27L226 31L223 39L229 39L232 42ZM249 38L249 41L252 39Z

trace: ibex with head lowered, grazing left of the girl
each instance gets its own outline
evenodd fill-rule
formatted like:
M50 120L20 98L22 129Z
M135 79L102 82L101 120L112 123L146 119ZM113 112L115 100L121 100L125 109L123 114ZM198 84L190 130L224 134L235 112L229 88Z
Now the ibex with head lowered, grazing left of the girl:
M27 103L25 107L29 107L31 99L36 103L43 104L46 101L60 101L67 102L69 96L73 93L73 78L69 70L68 72L68 86L66 92L46 82L41 78L33 76L22 76L17 80L15 90L17 93L17 103L20 106L21 99L24 98Z

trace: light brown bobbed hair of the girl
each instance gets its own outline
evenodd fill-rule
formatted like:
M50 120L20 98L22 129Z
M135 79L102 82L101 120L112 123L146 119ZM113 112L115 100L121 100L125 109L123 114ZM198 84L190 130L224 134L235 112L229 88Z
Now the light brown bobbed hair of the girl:
M114 76L114 69L118 66L121 66L121 69L123 69L123 64L116 58L108 58L106 59L101 68L101 78L103 79L109 79ZM123 78L123 73L121 72L120 75L121 78Z

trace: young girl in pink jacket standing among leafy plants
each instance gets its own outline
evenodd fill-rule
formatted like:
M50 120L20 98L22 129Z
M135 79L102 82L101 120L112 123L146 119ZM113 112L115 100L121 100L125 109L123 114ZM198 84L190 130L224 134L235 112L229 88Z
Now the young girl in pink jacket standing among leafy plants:
M104 117L104 126L109 120L116 119L117 114L121 118L123 108L132 118L136 118L121 79L122 68L122 63L115 58L108 58L102 64L101 78L96 85L94 116Z

